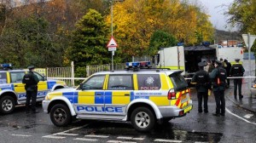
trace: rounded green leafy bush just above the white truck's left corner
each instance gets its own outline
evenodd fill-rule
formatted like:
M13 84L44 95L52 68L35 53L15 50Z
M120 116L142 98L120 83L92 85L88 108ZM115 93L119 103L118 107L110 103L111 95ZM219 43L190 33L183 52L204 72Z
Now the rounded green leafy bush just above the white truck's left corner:
M149 43L149 55L157 54L160 47L172 47L177 45L177 39L165 31L154 31Z

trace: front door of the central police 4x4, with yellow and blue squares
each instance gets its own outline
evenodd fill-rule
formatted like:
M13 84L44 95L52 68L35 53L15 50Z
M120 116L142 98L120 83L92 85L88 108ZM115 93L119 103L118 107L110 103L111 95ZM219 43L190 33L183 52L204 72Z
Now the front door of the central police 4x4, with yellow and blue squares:
M90 77L80 85L78 103L74 104L78 114L105 114L103 85L106 75Z

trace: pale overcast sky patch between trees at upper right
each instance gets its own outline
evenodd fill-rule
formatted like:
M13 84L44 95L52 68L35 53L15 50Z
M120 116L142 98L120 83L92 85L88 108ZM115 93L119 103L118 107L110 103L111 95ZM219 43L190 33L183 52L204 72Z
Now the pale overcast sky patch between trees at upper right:
M212 25L216 27L218 30L224 31L236 31L235 28L225 28L226 16L224 16L224 12L227 11L227 7L224 5L230 5L234 0L198 0L201 1L202 5L207 9L207 14L211 15L210 20Z

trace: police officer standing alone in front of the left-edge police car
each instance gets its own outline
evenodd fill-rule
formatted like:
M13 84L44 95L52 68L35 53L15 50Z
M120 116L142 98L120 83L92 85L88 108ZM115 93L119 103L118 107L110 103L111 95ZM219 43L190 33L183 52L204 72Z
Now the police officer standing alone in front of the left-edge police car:
M38 95L38 77L33 73L35 66L28 66L29 72L24 75L22 83L25 83L26 89L26 113L29 113L30 100L32 100L32 112L37 113L36 101Z

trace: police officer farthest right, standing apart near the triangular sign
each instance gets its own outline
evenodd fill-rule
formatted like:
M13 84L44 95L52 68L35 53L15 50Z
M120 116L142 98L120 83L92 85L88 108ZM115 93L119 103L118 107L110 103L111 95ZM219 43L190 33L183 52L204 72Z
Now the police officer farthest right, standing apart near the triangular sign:
M240 59L236 59L236 64L231 66L230 75L232 77L242 77L243 72L245 72L243 66L241 66L241 64L239 64L239 60ZM241 100L243 97L243 95L241 95L241 78L234 79L234 98L235 99L236 99L237 86L238 86L239 99Z

